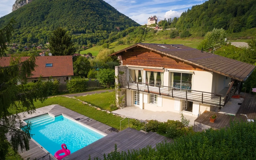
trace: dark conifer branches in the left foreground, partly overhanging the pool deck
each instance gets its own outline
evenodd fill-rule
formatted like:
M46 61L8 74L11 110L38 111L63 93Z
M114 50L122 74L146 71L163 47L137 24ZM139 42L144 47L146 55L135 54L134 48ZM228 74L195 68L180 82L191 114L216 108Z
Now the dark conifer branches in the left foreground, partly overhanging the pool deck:
M5 42L9 42L13 31L11 20L0 29L0 59L6 51ZM0 66L0 159L5 159L8 147L12 146L17 153L18 148L29 150L31 126L22 127L19 112L34 112L34 101L43 102L48 96L50 82L27 83L27 77L35 68L35 56L30 58L11 58L9 66ZM18 85L20 83L20 85ZM17 126L19 128L17 128ZM20 129L22 128L22 129ZM10 134L10 142L7 140Z

